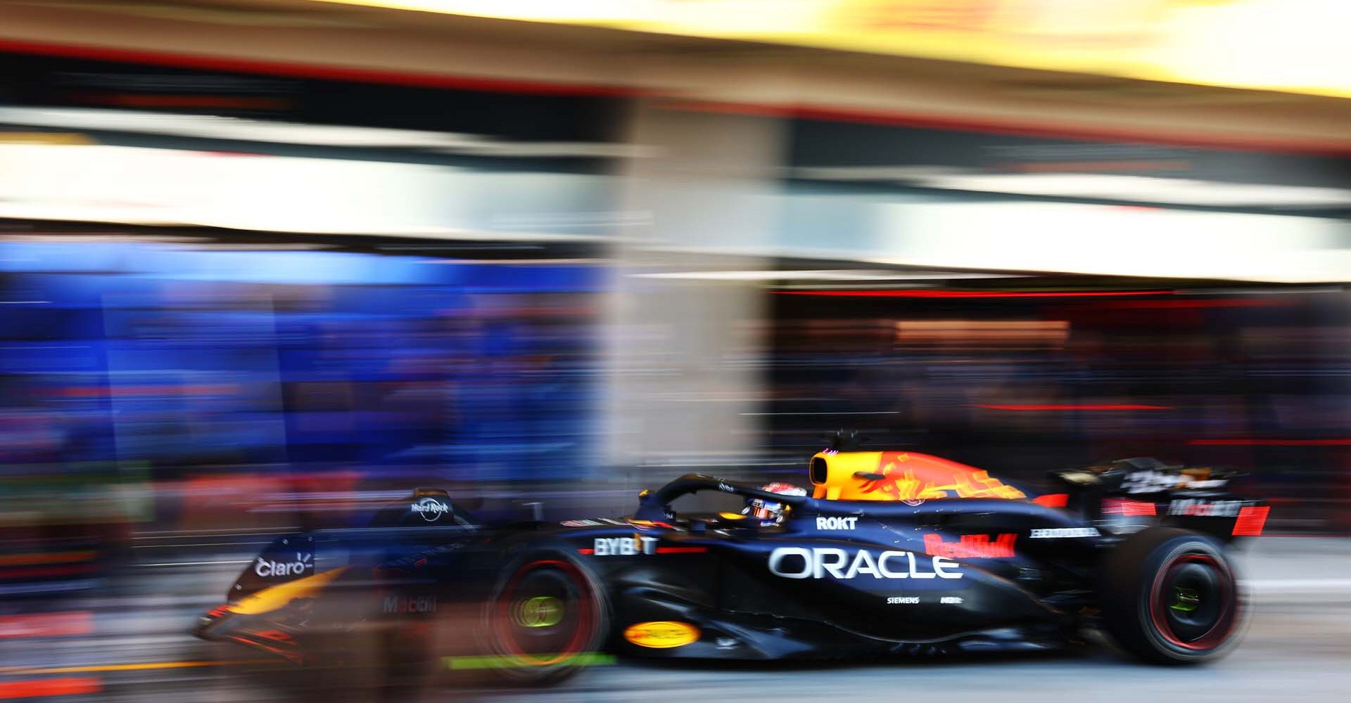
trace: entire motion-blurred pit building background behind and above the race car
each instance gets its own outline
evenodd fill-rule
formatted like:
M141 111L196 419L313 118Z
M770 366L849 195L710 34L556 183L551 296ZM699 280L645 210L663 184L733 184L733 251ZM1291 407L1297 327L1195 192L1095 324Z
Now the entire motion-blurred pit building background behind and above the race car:
M1348 22L0 1L0 698L257 698L182 630L274 533L801 483L840 428L1347 534Z

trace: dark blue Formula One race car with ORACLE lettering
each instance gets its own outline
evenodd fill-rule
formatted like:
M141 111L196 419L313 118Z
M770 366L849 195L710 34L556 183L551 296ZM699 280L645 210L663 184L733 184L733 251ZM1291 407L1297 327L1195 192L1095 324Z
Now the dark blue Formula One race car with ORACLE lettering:
M913 452L828 449L809 474L813 495L686 475L632 515L561 524L485 525L419 490L372 528L277 540L197 633L347 673L359 657L382 680L544 683L613 654L1046 650L1086 627L1192 664L1235 645L1225 545L1269 510L1225 474L1152 459L1055 472L1061 493L1038 497ZM746 507L673 507L701 491Z

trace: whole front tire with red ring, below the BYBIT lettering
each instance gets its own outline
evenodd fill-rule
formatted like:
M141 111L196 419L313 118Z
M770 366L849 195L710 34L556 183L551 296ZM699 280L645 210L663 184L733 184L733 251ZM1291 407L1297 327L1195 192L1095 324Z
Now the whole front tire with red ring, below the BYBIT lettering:
M562 549L509 560L484 607L492 671L531 685L576 675L605 644L607 607L592 569Z

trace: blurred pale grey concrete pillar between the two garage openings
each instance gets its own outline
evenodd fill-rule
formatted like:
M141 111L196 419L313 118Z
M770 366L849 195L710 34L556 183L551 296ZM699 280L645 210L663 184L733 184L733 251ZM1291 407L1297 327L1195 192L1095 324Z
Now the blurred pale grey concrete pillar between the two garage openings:
M607 457L642 484L735 475L759 440L766 298L755 281L697 277L770 263L728 255L775 235L785 124L640 101L630 127L650 157L621 188L635 224L613 251Z

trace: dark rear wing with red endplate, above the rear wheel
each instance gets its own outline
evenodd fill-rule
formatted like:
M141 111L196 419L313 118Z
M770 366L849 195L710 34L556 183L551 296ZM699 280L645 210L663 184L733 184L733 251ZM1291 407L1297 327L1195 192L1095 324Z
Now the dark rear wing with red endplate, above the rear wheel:
M1051 476L1069 494L1066 507L1123 530L1163 524L1229 541L1260 536L1271 510L1265 501L1231 493L1239 472L1152 457L1052 471Z

